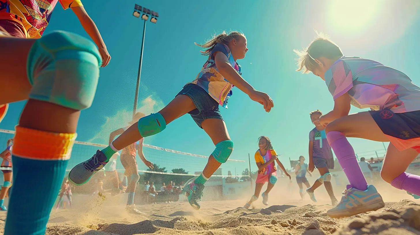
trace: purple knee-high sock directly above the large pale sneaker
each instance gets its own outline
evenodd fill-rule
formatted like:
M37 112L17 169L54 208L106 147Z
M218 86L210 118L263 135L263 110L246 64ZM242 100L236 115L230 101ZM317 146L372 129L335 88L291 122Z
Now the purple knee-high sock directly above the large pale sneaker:
M330 131L327 133L327 140L334 150L352 187L365 191L367 189L365 176L363 175L362 170L360 170L356 154L354 154L354 150L349 141L347 141L346 136L339 131Z

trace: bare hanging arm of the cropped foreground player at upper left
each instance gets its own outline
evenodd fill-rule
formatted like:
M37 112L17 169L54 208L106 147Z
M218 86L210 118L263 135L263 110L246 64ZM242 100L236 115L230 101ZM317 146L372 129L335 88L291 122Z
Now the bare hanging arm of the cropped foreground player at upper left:
M89 17L86 10L84 10L83 6L72 7L71 10L76 14L77 18L83 26L83 29L89 34L95 44L98 46L99 53L102 56L102 65L101 67L105 67L108 65L109 61L111 60L111 56L108 53L106 48L105 42L102 40L101 34L99 33L98 28L93 22L92 18Z

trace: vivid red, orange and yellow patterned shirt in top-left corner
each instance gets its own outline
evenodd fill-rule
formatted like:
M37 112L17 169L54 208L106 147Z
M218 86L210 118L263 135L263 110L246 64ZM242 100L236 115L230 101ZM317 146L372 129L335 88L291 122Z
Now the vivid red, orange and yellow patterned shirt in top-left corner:
M22 18L28 38L39 38L47 28L55 4L60 2L64 10L83 6L80 0L0 0L0 20ZM12 17L11 17L12 16Z

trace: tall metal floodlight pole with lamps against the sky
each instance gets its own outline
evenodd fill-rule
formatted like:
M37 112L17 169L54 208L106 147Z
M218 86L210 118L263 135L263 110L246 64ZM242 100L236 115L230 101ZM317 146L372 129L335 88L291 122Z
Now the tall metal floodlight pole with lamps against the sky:
M143 13L142 13L142 11L143 11ZM157 22L157 17L159 17L159 14L157 12L152 11L152 10L147 9L147 8L142 8L142 6L135 4L134 5L133 16L139 18L141 14L142 14L142 20L144 20L143 39L142 39L142 49L140 50L139 72L137 73L136 94L134 96L133 117L137 112L137 100L138 100L138 97L139 97L140 74L142 73L144 36L146 35L146 22L149 19L149 15L152 15L152 18L150 19L150 22L152 22L152 23L156 23Z

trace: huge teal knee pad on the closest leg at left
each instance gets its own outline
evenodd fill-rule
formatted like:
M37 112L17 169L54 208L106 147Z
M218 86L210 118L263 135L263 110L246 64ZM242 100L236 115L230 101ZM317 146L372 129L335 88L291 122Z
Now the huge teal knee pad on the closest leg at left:
M54 31L32 45L27 73L30 99L74 110L90 107L95 96L102 58L90 40Z

